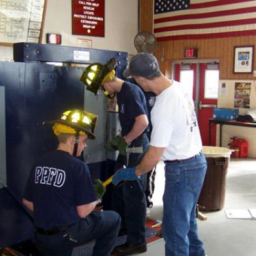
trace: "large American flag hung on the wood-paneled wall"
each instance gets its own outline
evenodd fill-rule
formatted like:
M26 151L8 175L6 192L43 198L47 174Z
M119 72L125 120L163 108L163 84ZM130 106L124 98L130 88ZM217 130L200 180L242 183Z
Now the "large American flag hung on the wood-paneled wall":
M256 35L256 0L154 0L159 42Z

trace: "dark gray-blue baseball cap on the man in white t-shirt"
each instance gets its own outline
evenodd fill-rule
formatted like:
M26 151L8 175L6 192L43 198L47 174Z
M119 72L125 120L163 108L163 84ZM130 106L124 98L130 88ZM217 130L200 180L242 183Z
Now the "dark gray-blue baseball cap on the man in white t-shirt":
M159 72L156 57L147 52L140 52L132 56L129 67L123 72L124 77L142 76L152 78Z

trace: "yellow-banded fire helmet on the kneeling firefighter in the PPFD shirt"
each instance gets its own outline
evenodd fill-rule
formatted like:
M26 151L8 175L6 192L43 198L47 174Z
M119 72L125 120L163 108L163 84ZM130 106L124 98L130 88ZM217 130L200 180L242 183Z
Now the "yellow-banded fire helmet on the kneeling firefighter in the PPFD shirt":
M98 116L84 110L67 110L58 120L45 121L43 124L53 124L52 131L56 136L60 133L87 134L95 139L95 127Z

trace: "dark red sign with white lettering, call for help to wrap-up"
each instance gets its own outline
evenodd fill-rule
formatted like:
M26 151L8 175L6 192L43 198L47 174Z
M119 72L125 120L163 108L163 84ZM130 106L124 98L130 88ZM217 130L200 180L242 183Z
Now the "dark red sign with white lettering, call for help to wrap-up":
M105 35L105 0L72 0L72 34Z

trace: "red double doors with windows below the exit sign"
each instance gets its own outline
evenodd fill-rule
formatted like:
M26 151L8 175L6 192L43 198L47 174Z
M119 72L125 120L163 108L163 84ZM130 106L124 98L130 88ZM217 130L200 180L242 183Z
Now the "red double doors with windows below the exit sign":
M217 106L218 63L175 64L174 79L188 85L195 102L195 111L203 145L209 145L209 118ZM215 145L216 127L211 129L211 145Z

